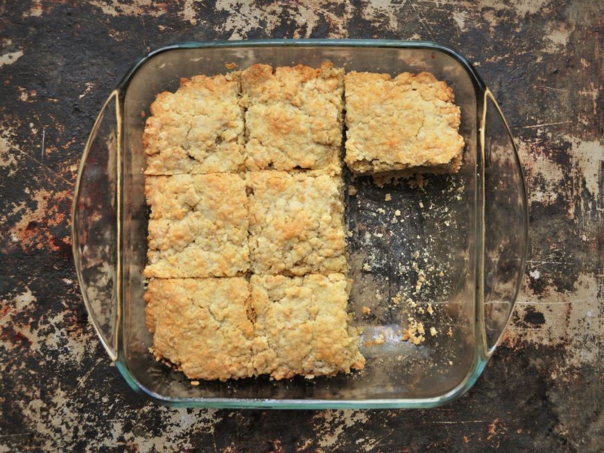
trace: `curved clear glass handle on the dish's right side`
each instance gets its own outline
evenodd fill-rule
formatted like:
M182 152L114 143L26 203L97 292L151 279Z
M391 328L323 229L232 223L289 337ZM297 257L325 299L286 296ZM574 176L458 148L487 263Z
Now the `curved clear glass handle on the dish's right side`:
M510 128L491 92L485 91L483 151L483 316L485 352L492 354L514 309L528 243L522 166Z

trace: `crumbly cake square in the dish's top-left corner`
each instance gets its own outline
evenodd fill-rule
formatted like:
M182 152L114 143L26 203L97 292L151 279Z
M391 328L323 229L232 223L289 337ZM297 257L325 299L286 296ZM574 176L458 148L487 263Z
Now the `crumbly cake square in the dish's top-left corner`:
M239 73L182 78L157 95L143 144L148 175L243 169L243 108Z

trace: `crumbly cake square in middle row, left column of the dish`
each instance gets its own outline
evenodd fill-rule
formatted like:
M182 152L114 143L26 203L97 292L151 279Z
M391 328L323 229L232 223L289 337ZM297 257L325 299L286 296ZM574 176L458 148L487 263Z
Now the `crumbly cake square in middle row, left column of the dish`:
M148 176L145 277L232 277L248 271L248 202L236 174Z

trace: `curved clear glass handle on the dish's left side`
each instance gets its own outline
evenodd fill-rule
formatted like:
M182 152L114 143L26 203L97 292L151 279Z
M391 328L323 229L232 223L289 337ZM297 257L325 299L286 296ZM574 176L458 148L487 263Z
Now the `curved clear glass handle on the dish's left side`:
M117 360L120 247L119 93L112 92L86 144L72 207L72 243L80 290L96 333Z

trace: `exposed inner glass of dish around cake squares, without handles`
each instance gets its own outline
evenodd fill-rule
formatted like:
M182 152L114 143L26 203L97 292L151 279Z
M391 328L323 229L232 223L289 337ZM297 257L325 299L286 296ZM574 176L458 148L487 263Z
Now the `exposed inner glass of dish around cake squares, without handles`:
M148 212L141 137L149 105L157 93L175 91L181 77L223 74L228 71L227 64L235 63L236 69L254 63L319 67L323 60L331 60L346 71L392 76L403 71L429 71L445 80L454 89L462 114L460 134L466 143L462 167L454 175L424 176L427 184L423 187L413 185L415 180L380 187L371 177L344 173L345 219L350 230L348 275L354 279L349 310L354 314L354 325L363 328L364 370L315 379L274 382L259 377L191 386L182 373L157 363L148 352L152 335L144 323L142 273ZM435 49L392 47L173 49L150 58L132 77L123 116L121 354L139 385L163 398L413 400L438 398L467 379L477 338L476 94L472 79L458 61ZM433 314L426 311L428 303ZM364 314L363 307L370 312ZM408 316L424 325L426 339L420 345L402 341ZM437 330L435 336L431 336L430 327Z

